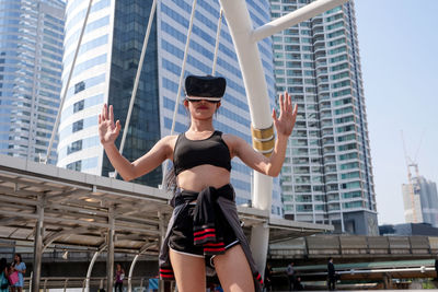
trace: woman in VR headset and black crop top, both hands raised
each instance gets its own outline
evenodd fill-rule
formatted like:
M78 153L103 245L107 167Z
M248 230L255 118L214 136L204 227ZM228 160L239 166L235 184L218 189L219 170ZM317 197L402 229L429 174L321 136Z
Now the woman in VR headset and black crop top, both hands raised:
M145 175L165 160L174 163L175 207L160 253L162 279L176 279L178 291L206 289L206 258L210 258L224 291L261 291L260 278L247 241L239 225L234 191L230 185L231 159L269 176L280 173L287 140L292 132L297 106L279 96L280 115L273 110L277 140L270 157L253 150L243 139L215 131L212 118L220 107L226 80L189 75L184 106L191 114L185 133L162 138L143 156L130 163L114 144L120 122L114 124L113 107L99 116L101 143L125 180ZM207 260L208 261L208 260Z

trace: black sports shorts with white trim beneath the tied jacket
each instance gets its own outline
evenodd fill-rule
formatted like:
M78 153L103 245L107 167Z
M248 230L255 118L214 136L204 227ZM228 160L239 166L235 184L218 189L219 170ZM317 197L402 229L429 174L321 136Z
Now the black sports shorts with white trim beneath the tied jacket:
M194 245L193 213L196 202L189 203L181 210L175 219L169 236L169 247L176 253L204 258L204 247ZM223 244L226 249L239 244L238 237L230 224L223 220Z

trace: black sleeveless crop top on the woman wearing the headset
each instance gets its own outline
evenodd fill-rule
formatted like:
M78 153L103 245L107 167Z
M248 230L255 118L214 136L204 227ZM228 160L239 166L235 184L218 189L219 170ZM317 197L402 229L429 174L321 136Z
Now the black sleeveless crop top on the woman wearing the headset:
M175 175L203 164L231 171L230 150L222 139L222 132L215 131L209 138L203 140L189 140L181 133L173 151Z

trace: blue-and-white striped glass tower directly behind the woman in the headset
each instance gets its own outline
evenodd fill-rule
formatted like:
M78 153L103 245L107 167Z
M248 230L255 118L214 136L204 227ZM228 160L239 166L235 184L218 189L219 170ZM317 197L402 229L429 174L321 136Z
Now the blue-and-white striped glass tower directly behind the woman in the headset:
M88 3L88 0L73 0L67 5L64 78L71 68ZM105 176L113 171L99 143L97 115L103 103L113 104L116 118L123 127L125 125L151 3L151 0L100 0L93 3L62 108L59 166ZM184 58L193 1L162 0L158 3L123 153L130 161L170 133ZM250 1L249 8L255 26L269 21L267 1ZM185 75L211 73L219 9L216 1L197 1ZM267 38L258 47L274 105L272 40ZM245 90L224 20L219 37L217 74L227 78L228 86L215 127L251 142ZM185 131L189 125L182 100L177 107L176 133ZM251 200L251 174L241 161L233 160L231 183L237 190L238 203ZM154 187L161 180L162 168L137 179ZM274 185L273 211L280 215L279 184Z

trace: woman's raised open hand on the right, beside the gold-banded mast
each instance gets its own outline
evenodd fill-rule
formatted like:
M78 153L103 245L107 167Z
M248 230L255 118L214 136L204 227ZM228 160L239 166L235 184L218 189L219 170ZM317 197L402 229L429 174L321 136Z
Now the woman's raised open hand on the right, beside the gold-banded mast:
M292 133L295 121L297 120L297 105L292 105L291 96L285 92L280 94L280 115L277 118L277 113L273 109L274 126L278 136L289 137Z

